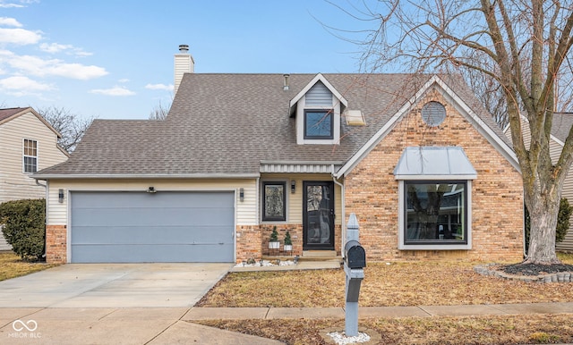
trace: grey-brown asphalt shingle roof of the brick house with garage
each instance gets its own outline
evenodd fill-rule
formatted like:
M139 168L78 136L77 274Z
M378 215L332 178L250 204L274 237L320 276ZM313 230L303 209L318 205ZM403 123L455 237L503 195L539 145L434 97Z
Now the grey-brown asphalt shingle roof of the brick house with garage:
M366 126L343 119L339 145L297 145L289 101L314 76L291 74L283 90L283 74L186 73L167 120L96 120L66 163L38 174L256 174L265 160L346 162L432 77L323 74ZM465 83L441 78L506 139Z

